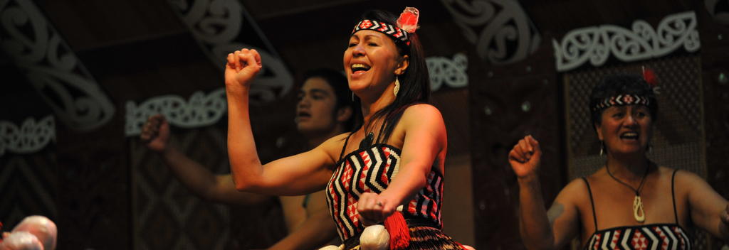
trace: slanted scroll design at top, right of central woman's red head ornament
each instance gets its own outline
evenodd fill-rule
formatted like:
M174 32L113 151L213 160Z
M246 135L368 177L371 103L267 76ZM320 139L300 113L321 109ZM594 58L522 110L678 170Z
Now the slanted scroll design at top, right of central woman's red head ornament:
M516 0L441 1L466 39L476 44L478 55L488 62L518 62L539 47L537 28Z

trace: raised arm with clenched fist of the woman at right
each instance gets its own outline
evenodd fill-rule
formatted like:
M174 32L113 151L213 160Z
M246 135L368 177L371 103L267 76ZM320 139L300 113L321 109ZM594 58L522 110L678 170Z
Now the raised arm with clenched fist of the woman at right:
M519 183L519 230L527 249L558 249L577 235L579 218L572 201L575 182L565 187L545 210L539 183L539 142L527 136L509 153L509 163Z

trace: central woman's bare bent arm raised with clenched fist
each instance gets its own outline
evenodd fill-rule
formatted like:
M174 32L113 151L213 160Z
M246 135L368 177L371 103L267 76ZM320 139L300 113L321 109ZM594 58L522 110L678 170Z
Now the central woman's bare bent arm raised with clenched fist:
M335 164L332 153L343 137L333 137L319 147L265 166L258 158L249 116L249 90L262 68L255 49L241 49L227 57L225 90L228 109L227 148L235 188L271 195L301 195L320 190L329 181Z

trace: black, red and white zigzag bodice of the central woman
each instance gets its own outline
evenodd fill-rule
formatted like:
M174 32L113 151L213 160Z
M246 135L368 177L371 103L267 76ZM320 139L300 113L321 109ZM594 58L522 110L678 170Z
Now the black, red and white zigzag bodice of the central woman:
M397 176L399 164L400 150L386 144L355 150L338 162L326 190L327 205L342 240L364 230L357 216L359 195L385 190ZM426 186L402 209L402 215L406 219L426 219L440 228L443 226L440 222L442 195L443 176L432 169Z

